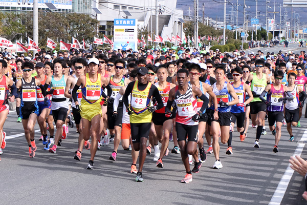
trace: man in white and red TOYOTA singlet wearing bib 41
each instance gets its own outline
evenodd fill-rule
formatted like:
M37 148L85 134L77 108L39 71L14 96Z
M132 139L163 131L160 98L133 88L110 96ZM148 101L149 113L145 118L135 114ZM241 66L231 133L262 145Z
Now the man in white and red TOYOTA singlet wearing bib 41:
M165 108L165 116L170 117L171 106L173 101L177 105L176 114L176 132L178 143L181 150L181 158L186 169L186 175L181 180L182 183L192 181L192 173L190 170L188 154L194 155L197 152L198 142L198 124L199 120L208 107L208 98L202 91L188 84L189 72L186 69L180 69L177 72L178 86L172 88L169 92L167 106ZM197 99L199 97L204 101L200 111L197 111ZM188 136L188 141L186 141Z

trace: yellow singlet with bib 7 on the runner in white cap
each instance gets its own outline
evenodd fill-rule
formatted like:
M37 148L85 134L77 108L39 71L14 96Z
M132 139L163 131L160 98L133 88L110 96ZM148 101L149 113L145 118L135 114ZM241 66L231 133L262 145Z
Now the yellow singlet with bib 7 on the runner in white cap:
M85 85L81 88L82 91L82 99L81 105L96 105L100 106L100 99L103 89L101 87L101 75L97 73L97 79L95 82L92 82L90 79L89 73L85 74Z

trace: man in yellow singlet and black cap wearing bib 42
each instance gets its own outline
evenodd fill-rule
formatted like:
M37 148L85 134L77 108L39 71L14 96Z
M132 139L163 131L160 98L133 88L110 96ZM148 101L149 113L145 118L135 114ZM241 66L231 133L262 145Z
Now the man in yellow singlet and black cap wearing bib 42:
M144 181L142 170L146 158L146 145L151 126L152 112L163 107L163 101L159 90L155 85L147 81L148 70L145 67L139 68L138 80L128 84L123 95L124 104L130 115L131 139L135 151L140 151L139 170L136 181ZM131 105L129 106L128 96L131 94ZM155 97L158 105L151 105L151 97Z

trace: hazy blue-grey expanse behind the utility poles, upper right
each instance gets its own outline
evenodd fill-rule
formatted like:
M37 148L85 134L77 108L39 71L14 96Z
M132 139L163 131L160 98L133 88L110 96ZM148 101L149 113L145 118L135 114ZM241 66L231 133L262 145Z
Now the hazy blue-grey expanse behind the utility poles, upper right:
M222 2L222 3L221 3ZM220 19L223 21L224 17L224 5L223 0L199 0L199 15L201 18L203 17L203 3L205 5L205 17L209 16L209 18ZM278 13L275 13L275 22L276 24L279 24L280 19L280 5L281 5L281 26L283 26L284 18L287 18L287 22L291 22L291 8L282 7L283 0L276 0L275 1L275 11ZM242 26L244 22L243 18L243 4L244 0L238 0L238 26ZM233 5L233 6L232 6ZM256 1L255 0L246 0L246 5L248 8L246 8L246 15L249 15L249 19L254 18L256 15ZM270 1L268 3L268 6L271 8L268 8L268 12L274 11L274 1ZM307 6L307 5L306 5ZM193 15L193 7L194 7L194 1L193 0L177 0L177 8L183 9L184 15L188 15L188 7L190 7L190 14ZM226 5L226 13L227 13L227 21L229 16L231 16L231 10L233 9L233 23L235 25L236 22L236 0L231 0ZM288 16L286 17L286 10L288 12ZM307 16L305 15L305 12L307 11L306 8L293 8L293 24L294 24L294 12L299 13L296 14L299 20L300 20L300 28L307 28ZM260 13L259 13L260 12ZM266 0L258 0L258 16L259 23L262 24L265 27L266 24ZM269 18L274 18L273 13L268 13ZM250 24L249 24L250 26Z

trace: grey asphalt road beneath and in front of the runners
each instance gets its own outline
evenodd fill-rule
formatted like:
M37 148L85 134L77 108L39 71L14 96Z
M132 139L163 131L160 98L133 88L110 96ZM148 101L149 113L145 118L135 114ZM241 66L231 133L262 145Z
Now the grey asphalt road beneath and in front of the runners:
M215 158L208 154L200 172L193 173L193 181L183 184L180 181L185 170L180 154L170 153L164 157L163 169L155 166L153 154L147 155L144 182L137 183L135 174L130 174L130 152L120 146L117 161L108 160L113 143L98 150L94 170L86 170L89 150L83 151L81 161L73 158L78 143L75 128L70 128L55 155L43 150L38 141L40 134L36 132L37 151L35 157L30 158L23 127L16 122L15 114L11 112L4 126L8 138L20 136L7 139L7 147L1 155L2 204L269 204L274 193L282 191L281 201L275 204L306 204L301 197L305 190L303 177L286 172L289 157L298 150L296 142L307 136L307 132L303 135L307 126L305 118L301 119L301 128L294 128L294 142L288 141L286 126L282 127L279 153L272 152L274 136L267 123L268 134L261 136L260 149L253 147L255 128L249 129L244 142L239 140L239 133L234 132L233 155L226 155L227 146L221 145L224 167L213 170ZM173 142L170 142L169 148L172 147ZM208 148L206 144L205 148ZM305 149L301 156L307 158ZM290 179L289 185L281 180L285 173ZM281 188L276 192L278 186Z

